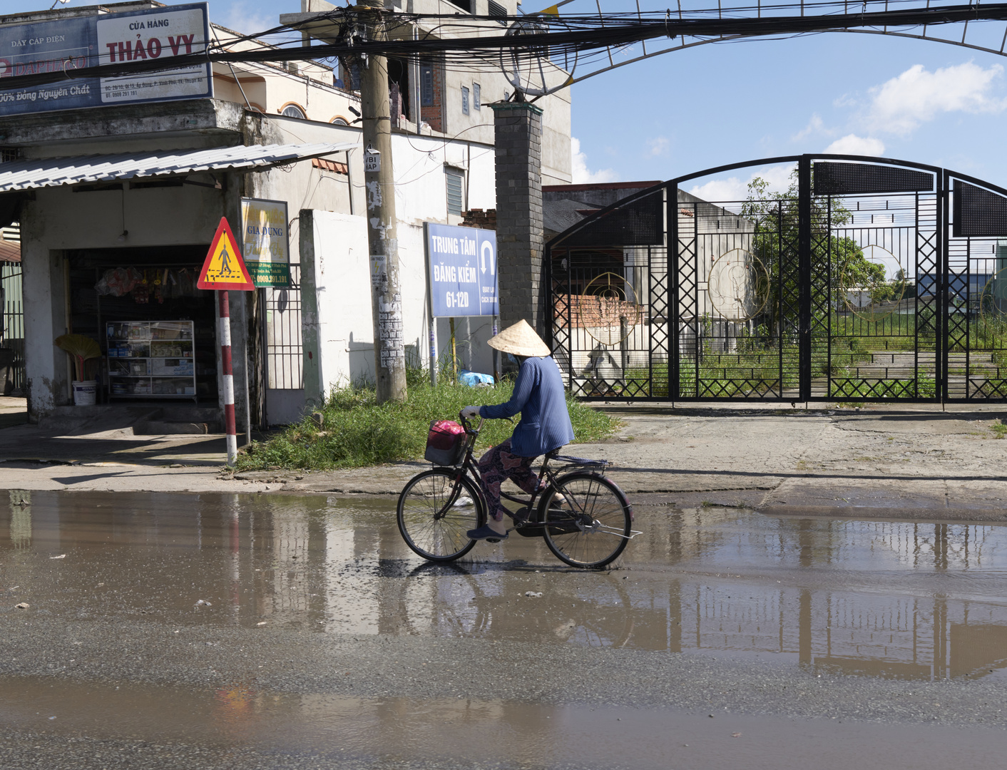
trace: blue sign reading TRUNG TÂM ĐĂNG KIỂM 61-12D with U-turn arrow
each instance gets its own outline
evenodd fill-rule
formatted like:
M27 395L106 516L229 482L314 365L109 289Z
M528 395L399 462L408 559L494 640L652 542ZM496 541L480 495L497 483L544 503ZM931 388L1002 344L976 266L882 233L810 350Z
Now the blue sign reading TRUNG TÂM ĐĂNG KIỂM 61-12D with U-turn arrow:
M434 318L499 315L496 234L426 222Z

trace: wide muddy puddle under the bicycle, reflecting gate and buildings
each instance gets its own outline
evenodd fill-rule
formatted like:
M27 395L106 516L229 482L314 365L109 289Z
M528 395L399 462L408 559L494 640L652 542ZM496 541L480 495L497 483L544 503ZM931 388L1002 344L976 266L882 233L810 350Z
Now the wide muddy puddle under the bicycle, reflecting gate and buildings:
M526 538L423 563L384 500L12 492L0 597L79 619L701 651L896 677L1007 667L1007 527L724 508L637 518L625 569L596 573Z

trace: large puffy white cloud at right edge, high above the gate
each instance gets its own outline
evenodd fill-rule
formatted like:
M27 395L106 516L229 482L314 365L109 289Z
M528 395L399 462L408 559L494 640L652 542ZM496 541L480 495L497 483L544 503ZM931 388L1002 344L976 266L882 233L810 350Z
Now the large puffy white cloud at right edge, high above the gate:
M897 78L870 90L871 104L865 124L871 131L907 136L919 124L941 113L999 113L1007 100L993 94L1003 66L987 69L966 61L929 72L913 64Z

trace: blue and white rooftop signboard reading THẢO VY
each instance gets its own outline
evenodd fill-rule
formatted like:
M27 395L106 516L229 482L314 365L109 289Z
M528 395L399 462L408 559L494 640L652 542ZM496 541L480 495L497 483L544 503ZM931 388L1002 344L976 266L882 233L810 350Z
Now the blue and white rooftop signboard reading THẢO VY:
M210 64L117 78L78 78L74 70L120 61L163 59L206 48L206 3L0 26L0 115L213 96ZM65 72L48 86L3 91L3 79Z

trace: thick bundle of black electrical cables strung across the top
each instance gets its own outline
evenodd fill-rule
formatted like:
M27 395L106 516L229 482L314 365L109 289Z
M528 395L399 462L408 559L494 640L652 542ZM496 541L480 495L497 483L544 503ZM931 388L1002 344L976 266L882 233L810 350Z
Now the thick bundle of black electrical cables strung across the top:
M821 31L839 31L858 28L889 28L937 26L959 22L1002 21L1007 19L1007 3L990 5L947 5L921 7L918 0L899 2L888 0L884 10L869 11L870 5L881 5L875 0L862 2L804 3L800 6L803 15L793 15L799 6L794 4L771 4L766 6L742 6L730 9L693 9L683 11L681 18L656 18L657 14L597 14L567 15L554 17L540 16L465 16L444 14L404 14L384 11L358 11L338 8L311 20L297 24L280 25L255 35L240 35L209 43L205 50L171 56L167 59L143 59L139 61L119 61L87 65L64 70L36 71L4 79L4 91L33 88L81 78L110 78L128 74L154 72L164 68L204 65L207 62L276 62L319 59L358 59L368 55L385 55L404 58L442 59L445 64L471 67L473 62L497 66L502 52L507 51L514 62L536 64L543 58L559 56L587 56L607 53L612 48L630 45L634 42L658 38L753 38L771 35L795 35ZM855 9L851 13L850 8ZM897 7L897 6L912 7ZM756 10L757 9L757 10ZM835 12L808 14L809 9ZM840 12L842 9L842 13ZM752 16L752 11L757 15ZM790 11L792 15L771 15ZM770 13L771 12L771 13ZM726 15L725 15L726 14ZM769 15L767 15L769 14ZM385 35L394 34L400 28L412 28L425 22L435 22L440 36L429 32L419 39L412 35L405 39L369 39L368 25L375 19L383 22ZM331 43L304 45L295 40L289 47L265 43L263 36L296 34L302 31L311 34L311 25L319 19L332 22L334 31ZM500 20L510 27L508 33L499 34ZM490 26L492 25L492 26ZM555 30L555 31L551 31ZM518 32L526 32L520 34ZM482 34L495 32L495 34ZM514 33L512 33L514 32ZM383 35L384 36L384 35ZM372 36L373 37L373 36ZM239 42L254 42L257 47L248 50L227 50ZM298 44L300 43L300 44ZM98 56L92 59L101 60ZM42 65L51 62L39 62ZM59 63L59 62L56 62ZM41 68L41 67L39 67ZM46 67L48 68L48 67Z

